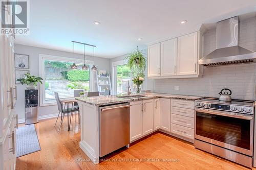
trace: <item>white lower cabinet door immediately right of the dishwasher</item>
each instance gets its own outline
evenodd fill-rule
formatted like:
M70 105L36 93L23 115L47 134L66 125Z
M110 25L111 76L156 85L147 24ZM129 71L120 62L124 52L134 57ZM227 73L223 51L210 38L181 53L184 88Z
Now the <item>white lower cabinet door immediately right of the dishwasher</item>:
M130 141L143 135L142 101L132 102L130 107Z

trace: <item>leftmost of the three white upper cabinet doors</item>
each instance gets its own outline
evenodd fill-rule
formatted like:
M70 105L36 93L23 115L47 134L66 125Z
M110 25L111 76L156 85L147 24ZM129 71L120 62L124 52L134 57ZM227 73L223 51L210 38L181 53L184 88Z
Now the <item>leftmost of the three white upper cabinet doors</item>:
M161 43L147 48L147 77L160 76Z

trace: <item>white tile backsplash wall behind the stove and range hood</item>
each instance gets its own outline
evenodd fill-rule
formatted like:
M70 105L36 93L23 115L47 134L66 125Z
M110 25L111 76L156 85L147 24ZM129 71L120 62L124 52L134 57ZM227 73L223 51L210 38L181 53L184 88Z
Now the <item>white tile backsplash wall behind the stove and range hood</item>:
M256 51L256 17L240 22L240 45ZM204 55L216 48L216 30L204 35ZM174 90L179 86L179 90ZM204 67L204 77L189 79L156 79L155 92L218 97L223 88L232 91L233 99L256 100L256 63Z

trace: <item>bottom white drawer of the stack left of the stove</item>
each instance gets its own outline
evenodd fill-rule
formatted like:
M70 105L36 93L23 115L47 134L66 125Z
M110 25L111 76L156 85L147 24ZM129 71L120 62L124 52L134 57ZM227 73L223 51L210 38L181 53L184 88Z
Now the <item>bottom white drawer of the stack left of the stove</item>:
M189 139L194 139L194 129L187 128L184 126L180 125L175 125L175 124L170 124L170 129L172 129L172 133L175 133L177 135L189 138Z

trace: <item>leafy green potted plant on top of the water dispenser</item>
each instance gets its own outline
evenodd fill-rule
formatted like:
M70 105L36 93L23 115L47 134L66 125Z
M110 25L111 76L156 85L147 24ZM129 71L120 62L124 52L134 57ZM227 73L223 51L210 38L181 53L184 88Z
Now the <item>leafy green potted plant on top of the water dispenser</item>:
M36 89L37 82L40 82L42 84L42 78L36 77L36 76L31 76L29 72L25 74L25 78L22 79L17 79L18 82L22 84L26 84L26 88L29 90L34 90Z

